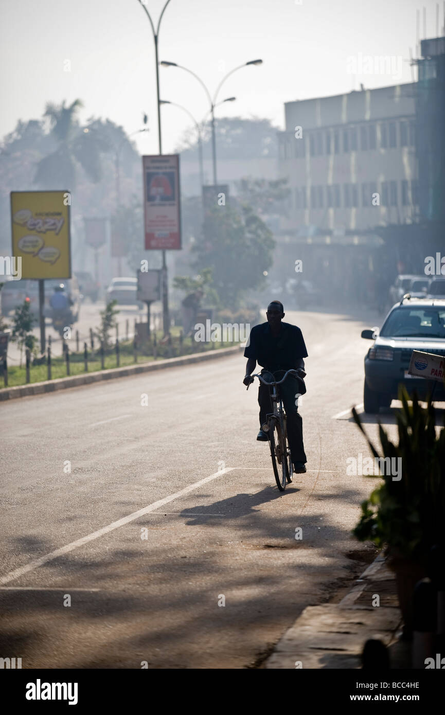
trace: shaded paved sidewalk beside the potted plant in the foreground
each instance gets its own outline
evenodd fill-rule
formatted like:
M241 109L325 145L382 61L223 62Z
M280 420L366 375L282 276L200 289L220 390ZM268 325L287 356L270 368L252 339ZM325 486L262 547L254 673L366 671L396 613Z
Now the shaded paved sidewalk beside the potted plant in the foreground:
M373 606L373 602L379 606ZM379 555L339 603L308 606L275 646L268 669L358 669L368 638L388 647L391 669L411 667L411 644L398 640L396 580ZM301 665L295 665L300 661Z

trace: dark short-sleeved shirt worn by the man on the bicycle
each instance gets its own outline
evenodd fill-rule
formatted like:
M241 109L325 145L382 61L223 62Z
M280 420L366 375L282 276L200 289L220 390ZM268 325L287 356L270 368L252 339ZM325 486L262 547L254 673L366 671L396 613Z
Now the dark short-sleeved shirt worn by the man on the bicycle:
M298 358L307 358L308 352L299 327L281 322L280 332L273 337L269 323L263 322L250 330L244 357L253 358L262 368L275 372L295 369Z

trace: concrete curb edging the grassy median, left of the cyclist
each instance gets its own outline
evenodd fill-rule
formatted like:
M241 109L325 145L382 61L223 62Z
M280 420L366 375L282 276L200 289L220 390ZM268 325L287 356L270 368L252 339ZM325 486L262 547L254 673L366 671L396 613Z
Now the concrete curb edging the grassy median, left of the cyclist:
M206 352L195 352L192 355L182 355L180 358L167 358L167 360L155 360L151 363L140 363L139 365L126 365L123 368L110 368L109 370L98 370L96 373L82 373L82 375L72 375L69 378L57 378L56 380L45 380L44 383L29 383L29 385L17 385L14 388L3 388L0 390L0 402L3 400L14 400L16 398L29 397L29 395L42 395L43 393L54 393L56 390L67 390L77 388L80 385L100 383L103 380L114 380L114 378L127 378L139 373L150 373L152 370L162 370L163 368L177 368L179 365L193 365L202 363L205 360L224 358L228 355L235 355L243 350L244 345L235 347L222 347L219 350L207 350Z

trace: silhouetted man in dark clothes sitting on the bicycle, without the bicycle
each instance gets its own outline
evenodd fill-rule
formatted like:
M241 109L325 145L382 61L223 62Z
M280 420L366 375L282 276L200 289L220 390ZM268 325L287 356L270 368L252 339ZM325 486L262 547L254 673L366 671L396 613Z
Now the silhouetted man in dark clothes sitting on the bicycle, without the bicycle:
M266 316L268 322L255 325L250 331L248 344L244 356L248 358L245 368L244 385L250 385L253 378L250 376L258 362L263 370L261 375L264 380L271 382L280 380L286 370L304 371L303 358L308 357L303 335L299 327L281 322L284 317L283 303L273 300L268 305ZM288 440L294 472L302 474L306 471L307 462L303 445L303 420L298 414L298 395L301 395L301 383L293 375L288 375L283 385L280 386L285 413L288 417ZM270 400L269 388L260 384L258 390L258 404L260 405L260 431L257 440L267 442L268 435L263 432L262 425L266 422L266 415L273 411Z

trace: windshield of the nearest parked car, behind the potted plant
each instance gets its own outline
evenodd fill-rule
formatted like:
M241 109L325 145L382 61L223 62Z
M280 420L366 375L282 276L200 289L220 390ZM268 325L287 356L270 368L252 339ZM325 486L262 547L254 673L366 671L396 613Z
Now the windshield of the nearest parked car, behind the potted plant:
M380 331L383 337L445 338L445 307L395 308Z

